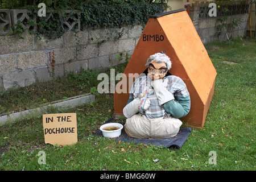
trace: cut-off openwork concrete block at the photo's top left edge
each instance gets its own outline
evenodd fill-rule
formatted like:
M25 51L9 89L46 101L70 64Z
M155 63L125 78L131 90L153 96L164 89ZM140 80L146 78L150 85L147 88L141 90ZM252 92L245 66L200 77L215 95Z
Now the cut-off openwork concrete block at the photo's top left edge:
M11 30L10 10L0 10L0 36L7 35Z

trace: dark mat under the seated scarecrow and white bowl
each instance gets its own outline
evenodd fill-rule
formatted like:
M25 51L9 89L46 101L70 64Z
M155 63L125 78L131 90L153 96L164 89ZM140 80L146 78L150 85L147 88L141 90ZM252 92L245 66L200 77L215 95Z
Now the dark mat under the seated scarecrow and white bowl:
M114 122L114 118L110 118L109 121L106 123ZM125 132L125 129L122 129L121 135L117 138L114 138L115 140L127 143L135 143L135 144L152 144L154 146L159 147L168 147L168 148L174 148L179 149L183 146L183 144L187 141L189 135L191 134L191 128L185 127L181 128L179 133L177 133L177 137L172 138L166 138L166 139L147 139L147 138L131 138L128 137L128 135ZM96 130L96 132L93 135L102 136L102 131L100 129Z

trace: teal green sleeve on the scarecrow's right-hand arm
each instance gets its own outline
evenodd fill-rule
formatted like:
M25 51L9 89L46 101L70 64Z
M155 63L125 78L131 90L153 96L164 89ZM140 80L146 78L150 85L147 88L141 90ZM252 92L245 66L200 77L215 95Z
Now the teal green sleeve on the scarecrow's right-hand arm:
M188 114L191 106L190 96L176 97L175 100L166 102L163 105L164 110L170 113L172 117L181 118Z

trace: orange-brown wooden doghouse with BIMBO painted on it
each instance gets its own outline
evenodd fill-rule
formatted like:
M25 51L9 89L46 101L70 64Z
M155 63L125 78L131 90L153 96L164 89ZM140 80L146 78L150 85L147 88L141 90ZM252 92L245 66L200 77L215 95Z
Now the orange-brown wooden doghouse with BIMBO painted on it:
M166 51L172 61L169 75L180 77L190 93L191 110L180 120L188 126L203 128L217 72L185 9L150 16L124 71L126 78L147 72L148 57L161 51ZM114 93L115 117L123 115L130 88L127 81L127 93Z

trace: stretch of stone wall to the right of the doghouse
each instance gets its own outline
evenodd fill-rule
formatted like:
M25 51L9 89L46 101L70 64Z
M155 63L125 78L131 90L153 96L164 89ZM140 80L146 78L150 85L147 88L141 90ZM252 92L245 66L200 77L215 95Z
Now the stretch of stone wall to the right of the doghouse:
M208 7L209 3L216 3L217 5L217 16L209 16L209 10L212 7ZM234 20L241 20L241 27L233 28L233 36L246 35L247 21L249 19L250 11L250 1L195 1L191 5L189 16L199 34L203 43L214 42L218 39L221 41L227 40L224 30L218 35L218 24L220 21L218 19L224 18L226 16L226 31L229 32L228 36L230 38L232 34L232 22ZM219 6L219 7L218 7ZM224 13L224 8L228 9L228 13Z

